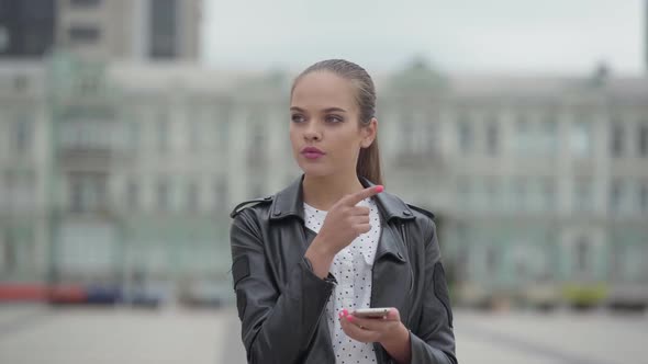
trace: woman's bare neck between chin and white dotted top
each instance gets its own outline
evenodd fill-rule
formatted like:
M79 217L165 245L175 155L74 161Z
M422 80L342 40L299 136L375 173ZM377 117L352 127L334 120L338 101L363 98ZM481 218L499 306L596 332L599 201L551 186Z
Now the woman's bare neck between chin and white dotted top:
M305 174L302 182L304 202L321 211L331 209L339 198L364 189L356 171L345 175L313 177Z

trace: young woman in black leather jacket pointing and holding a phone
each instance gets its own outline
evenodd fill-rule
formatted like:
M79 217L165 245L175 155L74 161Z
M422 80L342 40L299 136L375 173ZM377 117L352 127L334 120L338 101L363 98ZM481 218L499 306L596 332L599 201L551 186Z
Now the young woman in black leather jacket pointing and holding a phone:
M304 70L290 102L303 174L232 212L249 363L457 363L433 215L383 192L376 92L353 62ZM378 318L356 309L389 307Z

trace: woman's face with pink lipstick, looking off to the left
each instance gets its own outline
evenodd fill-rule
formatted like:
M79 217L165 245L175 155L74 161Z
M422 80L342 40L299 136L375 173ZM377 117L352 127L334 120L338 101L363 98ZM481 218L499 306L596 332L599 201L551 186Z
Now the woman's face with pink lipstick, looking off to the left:
M329 71L303 76L290 102L290 141L305 174L355 173L360 148L371 145L377 121L360 127L356 89Z

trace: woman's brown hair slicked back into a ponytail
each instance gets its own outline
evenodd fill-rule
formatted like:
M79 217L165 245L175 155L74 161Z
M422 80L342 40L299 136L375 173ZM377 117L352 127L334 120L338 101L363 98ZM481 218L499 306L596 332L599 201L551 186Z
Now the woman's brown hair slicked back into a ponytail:
M329 71L351 81L357 90L356 102L360 110L360 125L369 125L371 118L376 116L376 88L373 87L373 80L371 80L369 73L367 73L362 67L348 60L322 60L306 68L294 79L290 93L292 94L294 87L302 77L315 71ZM366 178L375 184L383 184L380 170L378 138L373 139L373 143L371 143L369 147L360 149L358 163L356 164L356 172L358 175Z

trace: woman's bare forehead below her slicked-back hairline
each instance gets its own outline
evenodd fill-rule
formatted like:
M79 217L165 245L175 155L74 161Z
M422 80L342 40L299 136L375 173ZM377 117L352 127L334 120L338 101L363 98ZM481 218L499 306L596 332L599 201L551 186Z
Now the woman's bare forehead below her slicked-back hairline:
M291 106L305 110L356 107L353 83L328 71L315 71L303 76L292 91Z

